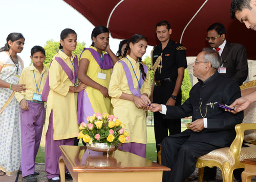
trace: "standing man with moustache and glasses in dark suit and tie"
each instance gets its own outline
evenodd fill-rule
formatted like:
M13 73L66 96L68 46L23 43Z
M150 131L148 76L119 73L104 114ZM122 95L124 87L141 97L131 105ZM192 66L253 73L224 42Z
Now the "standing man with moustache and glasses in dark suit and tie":
M214 23L207 29L206 40L221 57L219 73L243 85L248 75L246 49L241 44L226 41L225 38L226 30L222 23Z

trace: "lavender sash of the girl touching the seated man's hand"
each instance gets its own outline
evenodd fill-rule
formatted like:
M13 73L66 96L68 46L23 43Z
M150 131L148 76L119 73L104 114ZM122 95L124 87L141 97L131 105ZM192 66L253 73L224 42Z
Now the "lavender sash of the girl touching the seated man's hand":
M119 61L119 62L122 63L122 65L123 65L123 69L124 69L124 72L125 72L125 75L126 75L126 79L127 79L127 82L128 82L130 91L132 92L133 95L140 97L140 96L141 96L141 93L140 93L139 84L138 84L138 88L137 88L137 90L136 90L136 89L134 88L133 77L132 77L132 74L131 74L131 71L130 71L129 67L127 66L127 64L126 64L124 61ZM142 64L142 63L141 63L141 64ZM144 65L144 64L142 64L142 66L144 67L145 73L147 73L147 66ZM144 83L144 80L142 79L142 73L140 74L139 83L141 83L141 86L142 86L143 83Z

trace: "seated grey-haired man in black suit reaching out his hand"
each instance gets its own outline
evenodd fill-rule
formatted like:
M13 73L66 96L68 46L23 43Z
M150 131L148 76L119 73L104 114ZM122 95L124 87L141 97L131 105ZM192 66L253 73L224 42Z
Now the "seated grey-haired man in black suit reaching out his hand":
M236 81L218 73L220 65L217 51L204 48L193 64L194 76L200 81L191 88L183 105L152 103L148 107L152 112L160 111L168 119L192 116L193 120L189 129L168 136L162 142L162 164L172 169L163 172L163 181L184 181L195 171L197 157L230 146L236 137L234 126L242 122L243 112L225 112L218 104L230 105L241 97L241 91Z

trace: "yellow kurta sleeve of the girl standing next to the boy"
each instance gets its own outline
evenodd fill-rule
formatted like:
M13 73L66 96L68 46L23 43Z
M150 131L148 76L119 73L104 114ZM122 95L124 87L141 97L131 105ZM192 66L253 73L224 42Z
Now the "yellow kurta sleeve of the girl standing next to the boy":
M60 64L53 59L51 67L49 69L49 85L54 92L66 96L69 92L69 86L61 82L62 68Z

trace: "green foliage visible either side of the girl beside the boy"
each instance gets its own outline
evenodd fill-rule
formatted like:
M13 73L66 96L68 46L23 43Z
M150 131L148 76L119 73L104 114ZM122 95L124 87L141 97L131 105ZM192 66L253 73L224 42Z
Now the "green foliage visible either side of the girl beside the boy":
M78 57L78 59L80 57L83 47L85 47L85 46L86 46L86 43L77 42L76 49L75 49L75 51L73 51L73 53ZM59 42L54 42L53 39L48 40L46 42L46 45L44 46L44 49L46 51L46 60L44 62L44 65L47 68L49 68L53 56L58 53ZM32 61L31 61L31 63L32 63Z

